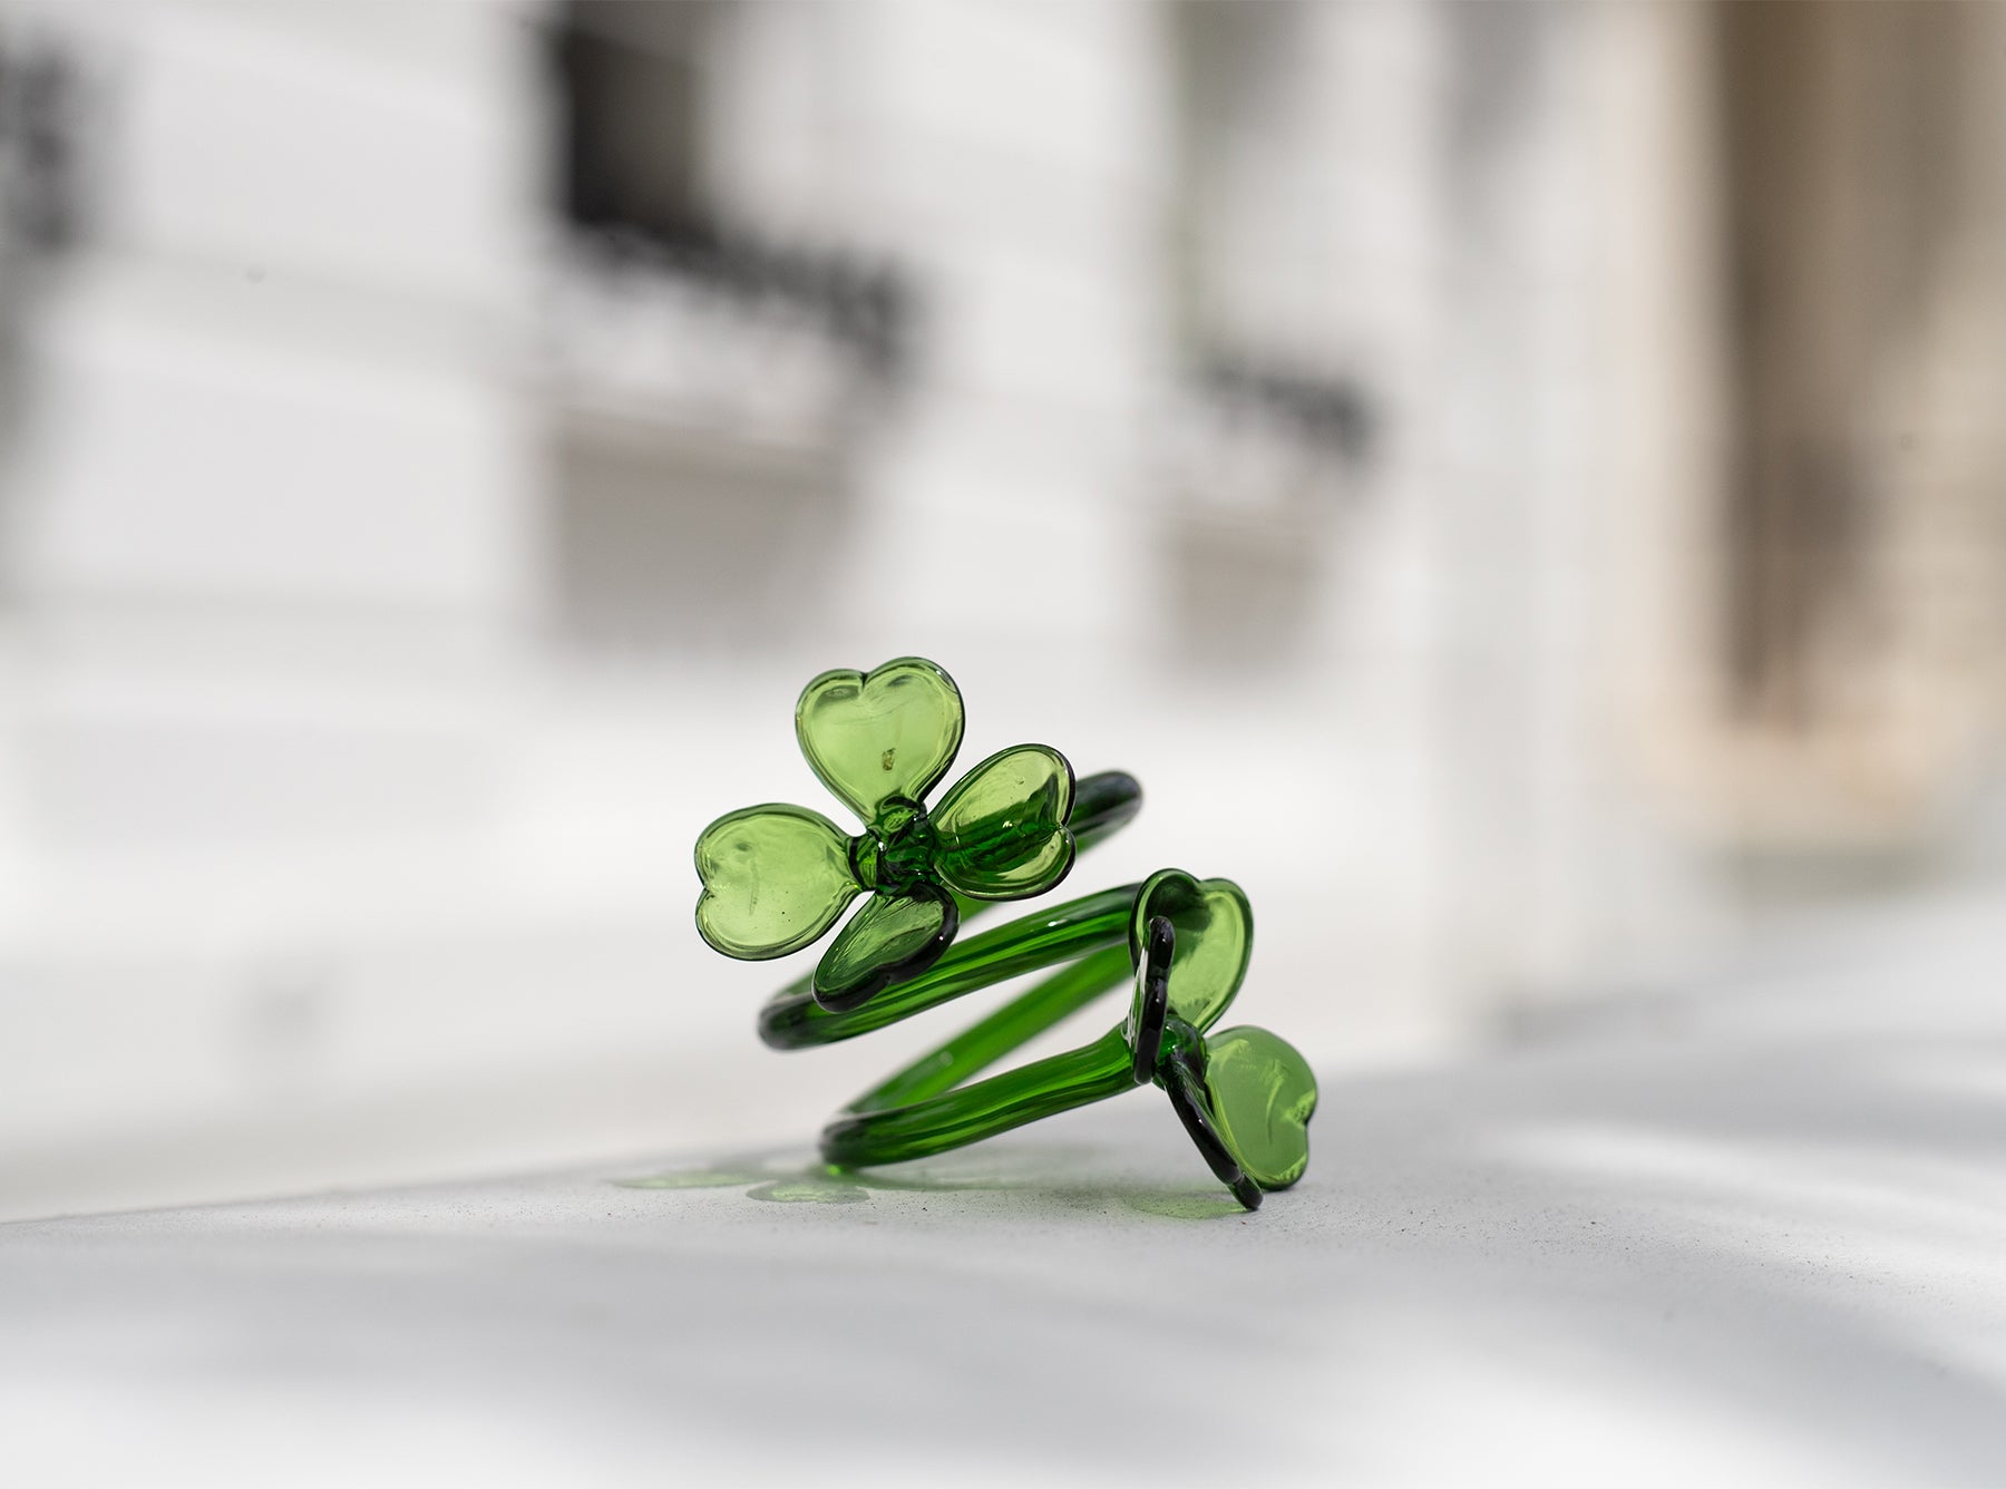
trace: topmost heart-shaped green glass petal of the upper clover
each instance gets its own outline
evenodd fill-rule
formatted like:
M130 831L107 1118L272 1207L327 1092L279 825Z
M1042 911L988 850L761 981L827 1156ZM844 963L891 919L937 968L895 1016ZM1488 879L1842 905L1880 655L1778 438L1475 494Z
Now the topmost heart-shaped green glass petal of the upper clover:
M794 704L808 767L863 823L893 797L921 801L961 749L961 690L923 656L822 672Z

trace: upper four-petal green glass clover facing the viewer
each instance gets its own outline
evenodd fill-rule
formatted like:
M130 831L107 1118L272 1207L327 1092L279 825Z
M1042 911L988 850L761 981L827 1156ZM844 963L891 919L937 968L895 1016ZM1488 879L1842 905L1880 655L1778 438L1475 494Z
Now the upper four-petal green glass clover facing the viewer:
M961 690L933 662L816 676L794 706L808 767L863 831L768 803L718 817L696 839L696 929L742 961L818 941L865 905L814 967L814 1001L849 1009L931 967L963 901L1023 899L1073 867L1073 767L1047 744L991 755L929 809L961 749Z

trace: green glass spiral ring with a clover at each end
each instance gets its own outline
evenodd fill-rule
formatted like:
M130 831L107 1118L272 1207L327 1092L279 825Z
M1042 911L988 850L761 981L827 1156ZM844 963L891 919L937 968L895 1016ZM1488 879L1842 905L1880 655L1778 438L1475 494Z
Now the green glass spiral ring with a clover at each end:
M1057 967L851 1102L822 1130L830 1164L927 1158L1155 1084L1246 1208L1302 1178L1316 1110L1308 1064L1266 1029L1212 1033L1254 949L1254 909L1236 883L1161 869L955 943L963 919L1057 887L1081 847L1133 819L1133 777L1075 781L1055 749L1019 744L929 809L959 751L963 708L953 678L917 656L820 674L800 694L794 728L865 831L845 837L820 813L766 805L726 813L696 841L696 925L730 957L798 951L869 895L814 971L760 1011L768 1046L851 1039ZM1127 1017L1093 1044L973 1080L1121 985L1133 989Z

